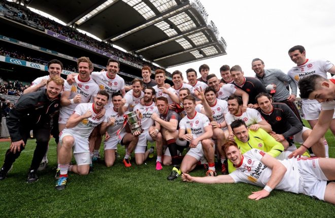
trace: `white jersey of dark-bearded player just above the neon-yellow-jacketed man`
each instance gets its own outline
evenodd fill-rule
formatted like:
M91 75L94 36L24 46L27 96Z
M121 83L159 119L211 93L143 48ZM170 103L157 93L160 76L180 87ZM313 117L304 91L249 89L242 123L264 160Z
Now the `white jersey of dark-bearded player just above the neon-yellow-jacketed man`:
M247 127L249 127L253 124L256 124L264 120L264 118L260 115L260 113L257 110L248 107L247 111L242 113L240 116L235 116L230 113L227 113L225 116L225 120L227 125L230 125L235 120L243 120L246 123Z

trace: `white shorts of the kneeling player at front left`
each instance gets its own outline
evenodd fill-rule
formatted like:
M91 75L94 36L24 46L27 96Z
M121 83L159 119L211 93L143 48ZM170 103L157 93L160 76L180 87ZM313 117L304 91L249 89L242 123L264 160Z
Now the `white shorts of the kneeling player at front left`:
M71 130L69 129L63 129L59 133L59 142L62 144L62 139L64 136L72 136L74 138L74 143L73 143L73 153L89 153L89 141L88 138L84 138L81 135L74 134Z

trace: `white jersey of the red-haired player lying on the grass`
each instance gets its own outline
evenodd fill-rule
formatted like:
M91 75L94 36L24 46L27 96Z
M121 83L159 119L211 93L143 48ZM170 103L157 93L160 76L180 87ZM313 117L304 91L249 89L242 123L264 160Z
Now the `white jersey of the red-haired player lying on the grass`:
M242 161L237 170L229 175L238 183L249 183L252 185L265 187L270 180L272 169L266 167L260 160L265 152L258 149L251 149L242 155ZM276 186L278 190L299 193L299 170L297 159L292 158L280 161L287 169L283 179Z

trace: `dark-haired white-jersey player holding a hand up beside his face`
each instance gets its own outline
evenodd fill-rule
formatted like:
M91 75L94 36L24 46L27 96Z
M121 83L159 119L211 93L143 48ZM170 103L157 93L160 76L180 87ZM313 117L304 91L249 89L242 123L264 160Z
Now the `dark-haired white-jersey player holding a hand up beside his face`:
M213 127L212 138L216 140L216 149L220 154L222 164L221 172L225 174L227 173L227 167L222 146L229 135L227 123L224 119L228 113L228 104L226 101L216 98L215 90L212 87L207 87L205 92L200 92L200 94L203 95L201 97L199 96L199 98L202 99L204 105L201 113L206 114L211 121L211 126Z

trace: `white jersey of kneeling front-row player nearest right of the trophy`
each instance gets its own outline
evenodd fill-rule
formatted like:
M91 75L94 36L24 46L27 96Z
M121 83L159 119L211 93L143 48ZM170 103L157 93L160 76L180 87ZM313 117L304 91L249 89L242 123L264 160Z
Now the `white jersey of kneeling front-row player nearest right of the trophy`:
M202 113L195 112L194 117L190 118L188 116L185 116L180 122L179 122L179 128L185 129L186 133L188 133L188 130L190 129L193 135L193 139L199 137L200 135L205 133L205 127L210 125L210 121L206 115L203 115Z

